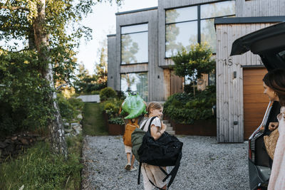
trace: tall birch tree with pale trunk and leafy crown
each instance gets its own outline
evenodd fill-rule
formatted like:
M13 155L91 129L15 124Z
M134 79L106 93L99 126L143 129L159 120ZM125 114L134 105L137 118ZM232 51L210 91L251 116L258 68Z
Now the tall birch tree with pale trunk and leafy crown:
M51 150L67 157L67 147L63 132L63 122L56 102L56 80L71 80L76 67L73 51L79 44L79 38L90 38L90 28L81 26L78 21L92 11L92 6L102 0L0 0L0 40L11 39L28 41L21 46L9 46L0 49L0 56L7 62L33 63L38 79L43 83L36 88L47 89L46 102L52 113L48 117ZM106 0L110 1L111 0ZM120 0L116 0L120 3ZM68 32L67 32L68 31ZM18 55L18 56L17 56ZM13 56L14 60L9 59ZM9 65L8 65L9 66ZM4 66L0 73L4 73ZM7 78L3 74L3 78ZM9 81L5 80L7 85ZM10 81L13 83L12 81ZM4 84L5 85L5 84ZM13 85L13 84L11 84Z

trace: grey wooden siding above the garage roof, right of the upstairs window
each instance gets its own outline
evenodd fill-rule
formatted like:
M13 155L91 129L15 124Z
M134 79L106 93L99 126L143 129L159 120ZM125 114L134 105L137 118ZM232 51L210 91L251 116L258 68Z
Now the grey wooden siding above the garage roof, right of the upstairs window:
M284 16L284 0L258 0L244 1L236 0L236 16Z

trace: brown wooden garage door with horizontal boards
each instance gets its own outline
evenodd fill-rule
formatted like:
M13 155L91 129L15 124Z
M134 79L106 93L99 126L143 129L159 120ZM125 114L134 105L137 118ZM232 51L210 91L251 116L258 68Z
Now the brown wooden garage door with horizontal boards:
M269 98L264 95L262 78L267 73L265 68L244 68L244 139L248 139L259 127Z

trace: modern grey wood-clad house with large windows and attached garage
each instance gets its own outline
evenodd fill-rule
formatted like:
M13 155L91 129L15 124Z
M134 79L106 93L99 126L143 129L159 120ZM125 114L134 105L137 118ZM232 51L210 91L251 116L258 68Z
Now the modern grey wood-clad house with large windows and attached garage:
M158 0L149 9L116 14L116 33L108 35L108 86L132 90L146 101L165 101L182 92L183 78L171 69L182 47L207 42L216 54L217 139L243 142L260 124L268 98L266 69L258 56L229 56L232 42L247 33L285 21L284 0Z

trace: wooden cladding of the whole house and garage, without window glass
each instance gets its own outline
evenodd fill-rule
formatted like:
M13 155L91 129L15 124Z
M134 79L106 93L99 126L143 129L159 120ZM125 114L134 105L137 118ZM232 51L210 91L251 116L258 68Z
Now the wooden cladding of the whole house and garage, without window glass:
M202 41L200 34L202 28L199 28L202 24L200 18L202 6L221 2L224 1L158 0L157 7L116 14L116 33L108 36L108 86L115 90L122 90L122 85L125 85L122 83L122 76L125 77L128 73L146 73L147 82L144 84L147 85L147 101L165 101L172 93L182 92L184 79L174 75L171 70L173 62L166 55L167 24L168 26L173 24L167 23L166 12L172 9L197 6L197 42L200 42ZM261 59L250 52L242 56L229 56L232 43L247 33L285 21L284 0L236 0L232 2L234 2L234 15L226 15L228 18L222 18L223 16L217 16L221 17L218 19L209 18L214 19L213 31L216 33L218 142L244 142L244 139L247 139L248 134L254 128L253 124L251 127L247 127L248 123L254 122L256 125L261 118L261 112L263 112L263 110L261 112L252 110L248 104L250 100L247 98L255 95L256 90L260 90L260 88L248 86L251 84L247 82L254 78L250 78L249 71L258 73L257 71L260 69L264 70ZM180 23L183 22L186 21ZM147 24L147 61L125 64L121 54L122 28L139 24ZM245 77L245 75L249 76ZM260 101L261 107L259 106L259 108L264 109L264 99ZM250 115L254 115L253 112L259 116L250 117Z

